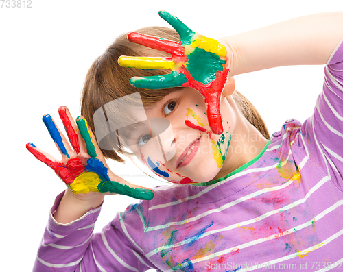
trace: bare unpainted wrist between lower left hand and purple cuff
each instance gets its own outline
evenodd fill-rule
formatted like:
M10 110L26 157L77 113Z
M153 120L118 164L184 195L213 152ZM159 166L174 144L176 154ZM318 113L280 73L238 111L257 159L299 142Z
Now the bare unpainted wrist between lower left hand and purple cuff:
M91 208L99 207L102 201L104 201L104 195L93 194L91 197L82 199L75 197L71 190L67 189L54 214L54 219L58 223L70 223L82 217Z

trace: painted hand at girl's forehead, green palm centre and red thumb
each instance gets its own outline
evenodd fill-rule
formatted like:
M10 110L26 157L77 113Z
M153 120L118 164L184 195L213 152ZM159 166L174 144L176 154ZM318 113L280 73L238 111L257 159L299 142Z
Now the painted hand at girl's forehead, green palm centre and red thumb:
M207 118L211 130L222 134L220 100L228 76L226 48L217 40L207 38L189 29L178 18L168 12L159 12L180 35L180 42L147 36L137 32L128 34L128 40L152 49L165 51L168 58L121 56L121 66L139 69L169 69L167 75L132 77L130 83L137 88L162 89L191 87L198 90L206 103Z

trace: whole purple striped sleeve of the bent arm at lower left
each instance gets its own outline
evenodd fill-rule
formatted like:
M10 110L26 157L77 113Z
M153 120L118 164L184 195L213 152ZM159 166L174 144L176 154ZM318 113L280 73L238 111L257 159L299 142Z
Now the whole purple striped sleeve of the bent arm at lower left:
M133 225L121 227L113 222L120 221L122 215L108 224L102 232L93 234L95 221L99 216L101 206L91 209L80 219L69 224L57 223L53 217L63 193L56 197L42 242L38 249L34 272L49 271L146 271L154 266L145 260L140 247L132 243L128 229L139 232L142 227L135 223L132 214L128 215ZM123 213L125 214L125 213ZM137 214L137 219L139 215ZM140 220L140 219L139 219ZM131 234L132 235L132 234ZM141 236L141 234L136 234Z

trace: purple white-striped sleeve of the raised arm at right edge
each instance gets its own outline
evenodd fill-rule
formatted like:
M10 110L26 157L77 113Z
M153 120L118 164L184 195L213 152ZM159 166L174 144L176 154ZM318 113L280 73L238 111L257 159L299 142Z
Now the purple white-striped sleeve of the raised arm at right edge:
M343 39L324 68L324 84L314 114L301 132L309 157L343 190Z

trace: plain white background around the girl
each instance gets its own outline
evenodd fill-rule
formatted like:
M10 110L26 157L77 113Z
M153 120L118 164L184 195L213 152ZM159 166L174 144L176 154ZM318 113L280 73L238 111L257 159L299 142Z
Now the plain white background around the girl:
M167 10L193 30L220 38L296 16L343 10L343 1L32 0L31 6L0 8L1 271L32 270L49 208L65 189L25 144L32 142L60 158L41 117L49 113L62 127L59 106L68 106L74 118L79 115L86 72L119 34L168 26L158 16L158 10ZM236 89L252 101L272 134L286 119L303 122L311 115L323 66L283 67L235 79ZM163 185L143 177L132 164L110 167L132 183ZM106 197L95 230L134 201Z

